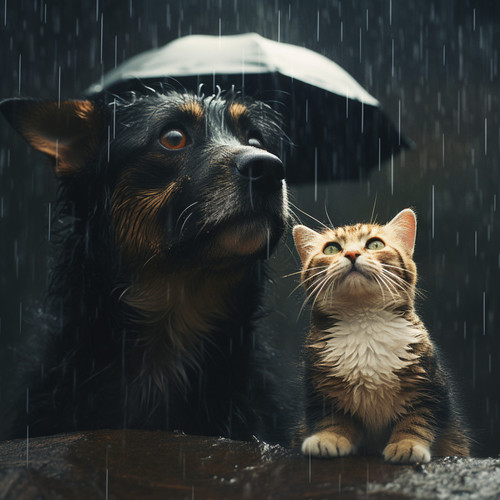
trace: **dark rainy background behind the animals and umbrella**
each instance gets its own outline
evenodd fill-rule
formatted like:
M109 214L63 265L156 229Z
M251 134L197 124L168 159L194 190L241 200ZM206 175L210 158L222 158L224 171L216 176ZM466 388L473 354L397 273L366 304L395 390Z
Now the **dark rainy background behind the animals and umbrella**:
M445 353L478 451L500 452L500 13L494 1L0 0L0 97L78 97L128 57L182 35L256 31L327 55L379 99L415 148L363 182L291 188L336 225L414 207L419 311ZM311 119L321 120L320 116ZM333 140L333 138L332 138ZM0 363L19 345L49 276L55 181L0 120ZM315 223L300 214L303 223ZM290 292L298 262L273 257L274 322L290 355L307 328ZM3 374L8 378L9 373ZM5 379L4 379L5 380Z

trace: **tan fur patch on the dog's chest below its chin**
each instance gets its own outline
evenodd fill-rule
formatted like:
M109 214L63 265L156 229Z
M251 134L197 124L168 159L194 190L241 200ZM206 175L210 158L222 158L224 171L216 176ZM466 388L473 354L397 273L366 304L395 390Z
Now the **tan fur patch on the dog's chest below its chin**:
M228 298L244 271L169 273L150 266L136 273L123 300L146 326L144 380L151 376L161 390L172 378L187 382L186 370L199 367L212 325L228 314Z

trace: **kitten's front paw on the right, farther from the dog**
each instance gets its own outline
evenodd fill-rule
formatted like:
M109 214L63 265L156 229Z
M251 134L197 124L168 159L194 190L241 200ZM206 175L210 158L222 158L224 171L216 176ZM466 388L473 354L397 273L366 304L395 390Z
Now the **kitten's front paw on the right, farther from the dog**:
M394 427L384 459L393 463L429 462L434 431L425 414L413 414L401 419Z

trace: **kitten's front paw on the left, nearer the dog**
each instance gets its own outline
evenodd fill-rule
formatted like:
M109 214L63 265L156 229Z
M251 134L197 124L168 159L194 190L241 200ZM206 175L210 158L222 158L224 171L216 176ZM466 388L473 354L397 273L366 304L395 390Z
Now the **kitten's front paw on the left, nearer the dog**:
M329 416L315 426L317 431L304 439L302 453L313 457L342 457L356 451L359 431L343 416Z

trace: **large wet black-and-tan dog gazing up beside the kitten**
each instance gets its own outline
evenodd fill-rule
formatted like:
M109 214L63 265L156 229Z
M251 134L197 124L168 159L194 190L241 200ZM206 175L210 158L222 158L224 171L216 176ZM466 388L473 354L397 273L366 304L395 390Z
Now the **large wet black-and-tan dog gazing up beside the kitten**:
M64 221L43 353L4 437L29 425L284 441L261 317L263 260L287 220L275 112L177 91L0 109L50 157Z

